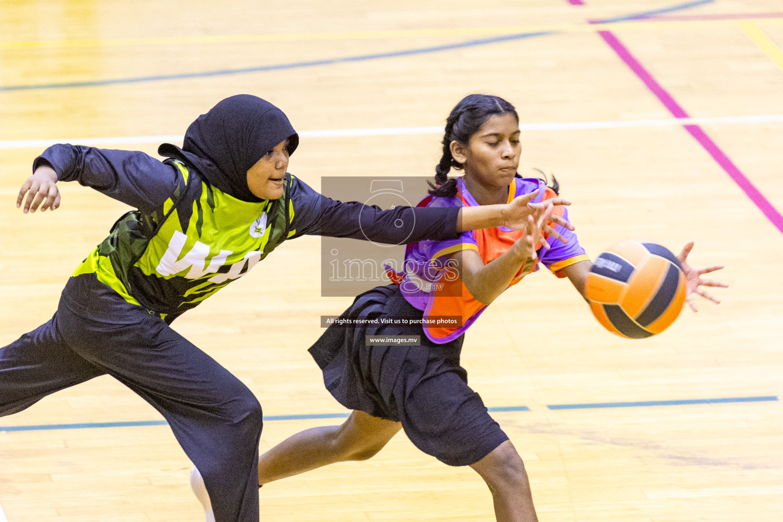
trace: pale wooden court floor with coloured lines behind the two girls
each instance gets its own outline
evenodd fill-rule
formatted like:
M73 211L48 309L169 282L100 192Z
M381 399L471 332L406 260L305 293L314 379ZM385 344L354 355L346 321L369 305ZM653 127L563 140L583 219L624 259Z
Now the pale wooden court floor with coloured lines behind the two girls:
M629 341L543 271L471 328L463 364L506 409L493 416L540 520L783 520L781 49L777 0L0 2L0 346L49 319L126 210L74 183L54 215L17 210L47 140L154 154L248 92L301 131L290 171L317 189L431 175L442 136L428 128L468 93L501 95L521 116L521 172L557 175L588 254L694 239L692 264L725 264L731 284ZM319 316L351 301L319 296L319 244L286 243L174 325L258 396L262 451L341 422L291 416L344 413L306 352ZM110 377L0 419L0 520L202 520L168 427L88 427L160 419ZM472 470L404 434L370 461L269 484L261 506L281 522L494 520Z

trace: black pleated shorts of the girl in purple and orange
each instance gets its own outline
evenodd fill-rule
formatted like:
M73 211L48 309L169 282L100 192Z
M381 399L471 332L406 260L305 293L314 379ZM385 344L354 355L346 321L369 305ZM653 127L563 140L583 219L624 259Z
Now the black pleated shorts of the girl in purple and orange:
M421 317L396 285L356 297L341 317ZM420 346L365 346L366 335L419 335ZM330 326L310 347L323 382L348 409L402 423L410 441L449 466L481 460L508 437L460 366L464 337L429 340L420 326Z

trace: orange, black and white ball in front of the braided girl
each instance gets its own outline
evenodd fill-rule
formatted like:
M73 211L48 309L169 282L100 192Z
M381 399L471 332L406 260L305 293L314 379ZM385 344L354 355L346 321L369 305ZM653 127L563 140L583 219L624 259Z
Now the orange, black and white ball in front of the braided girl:
M585 297L604 328L627 339L644 339L677 319L685 286L682 265L666 247L626 239L596 258Z

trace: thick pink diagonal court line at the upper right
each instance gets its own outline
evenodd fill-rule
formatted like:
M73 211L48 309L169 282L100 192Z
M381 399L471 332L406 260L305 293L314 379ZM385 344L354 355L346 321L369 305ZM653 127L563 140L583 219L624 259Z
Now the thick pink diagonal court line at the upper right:
M614 34L612 34L611 31L597 31L597 33L601 35L601 38L604 38L604 41L608 43L609 47L611 47L612 50L617 53L617 56L619 56L620 59L622 59L622 61L625 62L628 67L630 67L630 70L633 70L633 74L636 74L637 77L639 77L639 79L644 82L644 85L647 85L647 88L650 89L650 91L655 95L656 98L660 100L661 103L663 103L664 106L666 106L666 109L668 109L674 117L690 117L688 113L685 112L685 110L680 106L680 104L673 99L672 95L670 95L669 92L667 92L666 89L664 89L658 83L658 81L652 77L648 70L645 69L641 63L639 63L639 60L637 60L630 53L625 45L622 45L622 42L619 41L619 39ZM718 147L716 143L713 142L707 133L698 125L683 125L683 127L686 131L688 131L688 133L690 133L691 136L696 139L697 142L699 142L702 147L704 147L709 155L712 156L714 160L716 160L720 167L726 171L727 175L729 175L729 177L733 179L737 185L739 185L739 188L742 189L745 195L747 195L750 200L756 204L756 207L759 207L759 210L762 211L765 216L767 216L767 219L769 219L772 224L775 225L775 228L783 233L783 216L781 216L780 212L778 212L778 210L772 206L772 203L770 203L769 200L767 200L767 198L759 192L759 189L756 189L750 180L745 177L744 174L742 174L742 171L740 171L739 168L734 165L734 162L731 161L731 159L729 159L725 153L723 153L720 147Z

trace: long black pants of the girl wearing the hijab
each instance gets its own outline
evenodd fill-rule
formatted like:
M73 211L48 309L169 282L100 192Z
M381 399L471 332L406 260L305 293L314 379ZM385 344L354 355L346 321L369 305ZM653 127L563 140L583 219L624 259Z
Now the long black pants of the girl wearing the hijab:
M81 279L78 295L69 295L74 286L69 283L49 322L0 348L0 416L108 373L171 425L204 477L215 520L256 522L262 430L258 400L161 318L126 303L95 275L72 279ZM89 307L99 320L83 316ZM106 322L108 316L115 321Z

